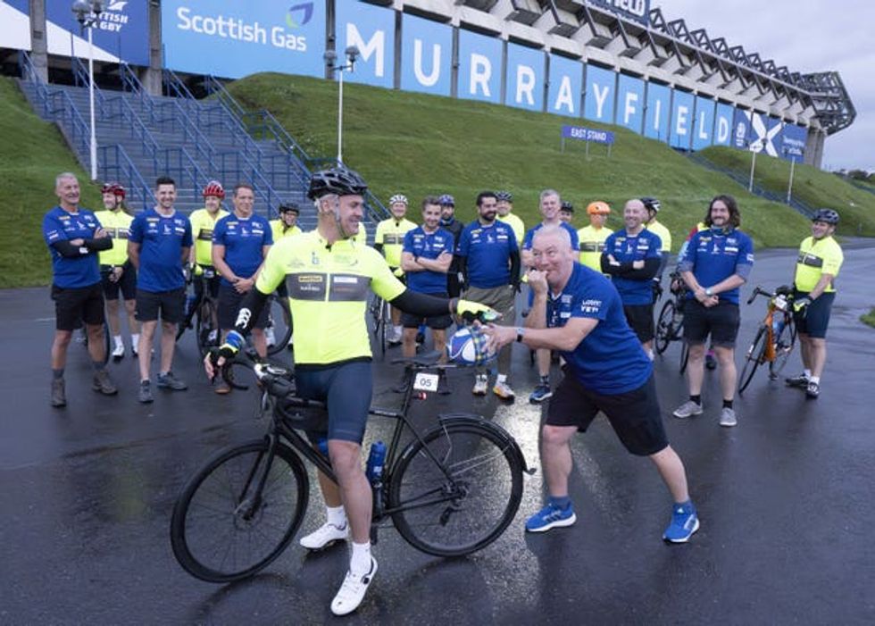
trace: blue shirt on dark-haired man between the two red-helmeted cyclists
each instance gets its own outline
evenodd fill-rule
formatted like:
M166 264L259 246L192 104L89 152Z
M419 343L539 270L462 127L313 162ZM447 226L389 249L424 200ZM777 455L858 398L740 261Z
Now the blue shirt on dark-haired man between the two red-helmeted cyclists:
M129 240L140 244L137 288L158 293L183 288L182 248L191 247L191 222L179 211L164 217L154 208L130 223Z

